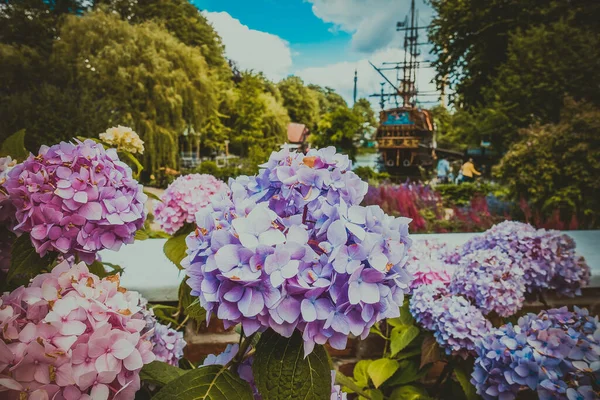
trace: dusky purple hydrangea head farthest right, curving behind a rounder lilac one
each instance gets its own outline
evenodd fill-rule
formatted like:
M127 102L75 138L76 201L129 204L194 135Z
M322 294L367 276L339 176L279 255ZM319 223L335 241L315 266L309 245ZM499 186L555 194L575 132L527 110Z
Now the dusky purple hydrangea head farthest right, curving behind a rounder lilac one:
M469 240L461 253L481 249L500 249L520 265L528 292L554 289L572 297L589 283L589 267L576 255L574 242L558 231L505 221Z

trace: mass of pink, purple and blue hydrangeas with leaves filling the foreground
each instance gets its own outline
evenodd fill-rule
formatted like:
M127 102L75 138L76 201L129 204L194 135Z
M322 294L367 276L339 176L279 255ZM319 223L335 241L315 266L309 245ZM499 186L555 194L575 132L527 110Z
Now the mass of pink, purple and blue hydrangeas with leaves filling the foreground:
M412 244L409 219L361 206L348 157L284 148L256 176L169 187L156 220L186 279L177 307L150 305L98 254L165 236L144 226L143 143L100 139L0 159L1 398L600 397L598 318L521 310L589 281L568 236L506 222L459 248ZM192 363L182 329L211 316L240 341ZM333 372L324 345L369 334L383 357Z

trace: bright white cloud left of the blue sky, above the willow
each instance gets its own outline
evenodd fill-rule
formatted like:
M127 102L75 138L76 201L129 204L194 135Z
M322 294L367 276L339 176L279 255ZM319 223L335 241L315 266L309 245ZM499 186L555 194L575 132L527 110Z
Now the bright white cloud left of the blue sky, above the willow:
M292 51L287 41L271 33L250 29L227 12L203 12L225 45L227 58L241 69L262 71L279 80L289 74Z

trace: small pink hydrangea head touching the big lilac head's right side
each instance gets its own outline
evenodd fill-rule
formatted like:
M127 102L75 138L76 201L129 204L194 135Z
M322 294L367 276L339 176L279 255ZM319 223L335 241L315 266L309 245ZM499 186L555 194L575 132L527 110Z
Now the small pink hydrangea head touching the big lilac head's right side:
M437 240L414 240L408 251L407 262L414 276L411 290L434 282L450 284L456 270L455 265L447 262L450 254L445 243Z

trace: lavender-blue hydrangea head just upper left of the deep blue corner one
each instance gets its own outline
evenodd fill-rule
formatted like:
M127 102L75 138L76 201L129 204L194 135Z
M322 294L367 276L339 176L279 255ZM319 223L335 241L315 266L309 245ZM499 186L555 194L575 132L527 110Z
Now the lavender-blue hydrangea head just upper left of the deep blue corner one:
M425 329L434 331L447 354L467 358L492 329L481 311L461 296L451 295L441 282L416 288L410 312Z

